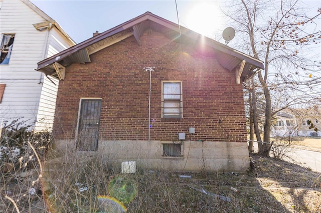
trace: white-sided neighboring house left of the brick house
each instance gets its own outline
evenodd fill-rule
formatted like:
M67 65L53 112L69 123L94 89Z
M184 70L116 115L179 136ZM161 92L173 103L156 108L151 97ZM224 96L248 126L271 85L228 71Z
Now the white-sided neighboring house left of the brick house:
M36 71L37 62L76 43L29 0L0 0L0 17L0 122L50 130L59 81Z

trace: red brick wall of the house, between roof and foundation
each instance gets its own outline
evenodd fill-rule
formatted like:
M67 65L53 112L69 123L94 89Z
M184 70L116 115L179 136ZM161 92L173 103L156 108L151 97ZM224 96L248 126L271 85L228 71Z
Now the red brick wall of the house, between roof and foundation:
M81 97L102 98L100 139L148 139L149 72L151 73L151 140L177 140L195 127L194 139L246 141L242 85L212 55L193 45L147 31L92 54L86 64L72 64L60 81L55 136L73 138ZM162 80L181 80L183 116L161 118ZM222 122L219 122L221 120Z

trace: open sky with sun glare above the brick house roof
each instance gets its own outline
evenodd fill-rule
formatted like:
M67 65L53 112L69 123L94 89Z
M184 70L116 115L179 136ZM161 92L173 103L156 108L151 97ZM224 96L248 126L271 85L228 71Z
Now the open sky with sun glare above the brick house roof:
M222 33L227 25L220 1L177 0L31 0L58 21L76 43L106 31L146 11L207 36Z

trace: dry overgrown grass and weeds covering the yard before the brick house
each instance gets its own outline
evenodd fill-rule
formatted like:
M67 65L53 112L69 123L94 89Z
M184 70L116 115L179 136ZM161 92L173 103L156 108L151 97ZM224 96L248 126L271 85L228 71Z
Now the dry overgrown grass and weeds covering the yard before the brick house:
M67 159L58 157L43 163L39 180L39 169L2 173L0 212L15 211L5 195L17 203L20 212L111 212L97 199L111 195L110 180L119 181L121 193L113 195L124 202L127 212L321 211L320 173L273 158L253 159L255 170L238 176L231 171L183 173L142 168L121 174L118 168L107 167L111 159L103 155L69 153ZM181 178L181 174L192 178ZM38 193L31 194L30 188Z

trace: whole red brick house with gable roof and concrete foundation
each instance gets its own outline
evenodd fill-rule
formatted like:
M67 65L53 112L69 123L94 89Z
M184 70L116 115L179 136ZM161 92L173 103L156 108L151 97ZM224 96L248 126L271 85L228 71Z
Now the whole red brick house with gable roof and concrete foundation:
M263 68L150 12L38 63L60 79L57 148L188 171L248 168L241 82Z

